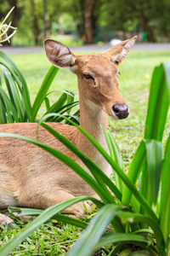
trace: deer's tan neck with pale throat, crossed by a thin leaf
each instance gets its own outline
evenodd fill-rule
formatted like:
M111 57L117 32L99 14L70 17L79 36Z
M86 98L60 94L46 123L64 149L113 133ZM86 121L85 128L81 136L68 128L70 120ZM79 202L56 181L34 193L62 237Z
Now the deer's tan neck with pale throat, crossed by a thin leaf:
M99 109L95 106L92 106L89 102L84 102L82 98L79 98L80 101L80 126L88 133L94 137L94 139L103 147L106 151L108 151L105 137L103 131L101 130L100 125L102 125L105 130L108 127L107 115L104 110ZM94 161L96 165L98 165L105 174L110 175L108 172L109 165L101 156L99 151L94 147L92 143L88 141L86 137L79 132L77 147L86 154L91 160Z

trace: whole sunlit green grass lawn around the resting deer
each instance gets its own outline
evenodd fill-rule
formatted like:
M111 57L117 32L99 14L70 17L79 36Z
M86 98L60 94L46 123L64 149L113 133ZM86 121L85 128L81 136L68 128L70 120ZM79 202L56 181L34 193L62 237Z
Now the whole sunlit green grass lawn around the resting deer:
M161 62L170 61L169 56L169 51L132 50L119 67L121 73L121 76L119 76L119 89L130 108L131 115L121 121L110 119L109 122L111 131L121 149L125 170L144 134L144 122L153 69ZM11 55L10 57L25 76L31 100L33 101L37 90L42 84L42 79L48 72L50 63L45 54ZM71 90L76 92L77 77L68 70L60 70L50 90ZM58 96L59 92L51 94L51 101L54 102ZM170 121L168 119L165 137L167 137L169 131ZM23 227L23 224L19 225L19 230L20 227ZM0 226L0 229L3 231L0 235L3 242L0 241L0 245L8 241L16 233L16 230L9 230L6 226ZM65 255L80 232L80 229L69 224L48 222L48 224L42 225L29 236L10 255ZM103 253L102 255L106 254Z

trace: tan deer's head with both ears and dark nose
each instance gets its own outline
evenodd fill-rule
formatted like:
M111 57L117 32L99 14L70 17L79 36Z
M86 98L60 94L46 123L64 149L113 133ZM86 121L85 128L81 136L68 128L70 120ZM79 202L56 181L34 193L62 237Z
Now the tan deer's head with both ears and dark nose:
M74 55L52 39L44 42L48 60L56 67L69 68L77 74L80 98L90 107L102 108L112 119L125 119L129 111L119 90L118 66L126 58L137 37L111 47L102 54Z

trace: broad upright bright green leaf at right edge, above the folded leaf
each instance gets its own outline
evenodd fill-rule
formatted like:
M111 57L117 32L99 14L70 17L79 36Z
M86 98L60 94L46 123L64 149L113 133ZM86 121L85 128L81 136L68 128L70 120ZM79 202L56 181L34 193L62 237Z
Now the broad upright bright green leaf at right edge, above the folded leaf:
M156 67L150 84L150 98L144 138L161 141L170 102L170 62ZM169 94L168 94L169 92Z

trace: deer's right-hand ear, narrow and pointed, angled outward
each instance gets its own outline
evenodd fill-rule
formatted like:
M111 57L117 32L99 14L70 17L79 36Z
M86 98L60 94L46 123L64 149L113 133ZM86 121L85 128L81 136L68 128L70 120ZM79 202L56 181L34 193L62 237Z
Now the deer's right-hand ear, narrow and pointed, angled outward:
M105 52L105 55L108 55L111 58L111 61L116 66L119 66L122 63L122 61L126 58L129 49L131 49L137 38L138 37L135 36L131 39L122 41L121 43L114 45L113 47L111 47L111 49L108 49Z

